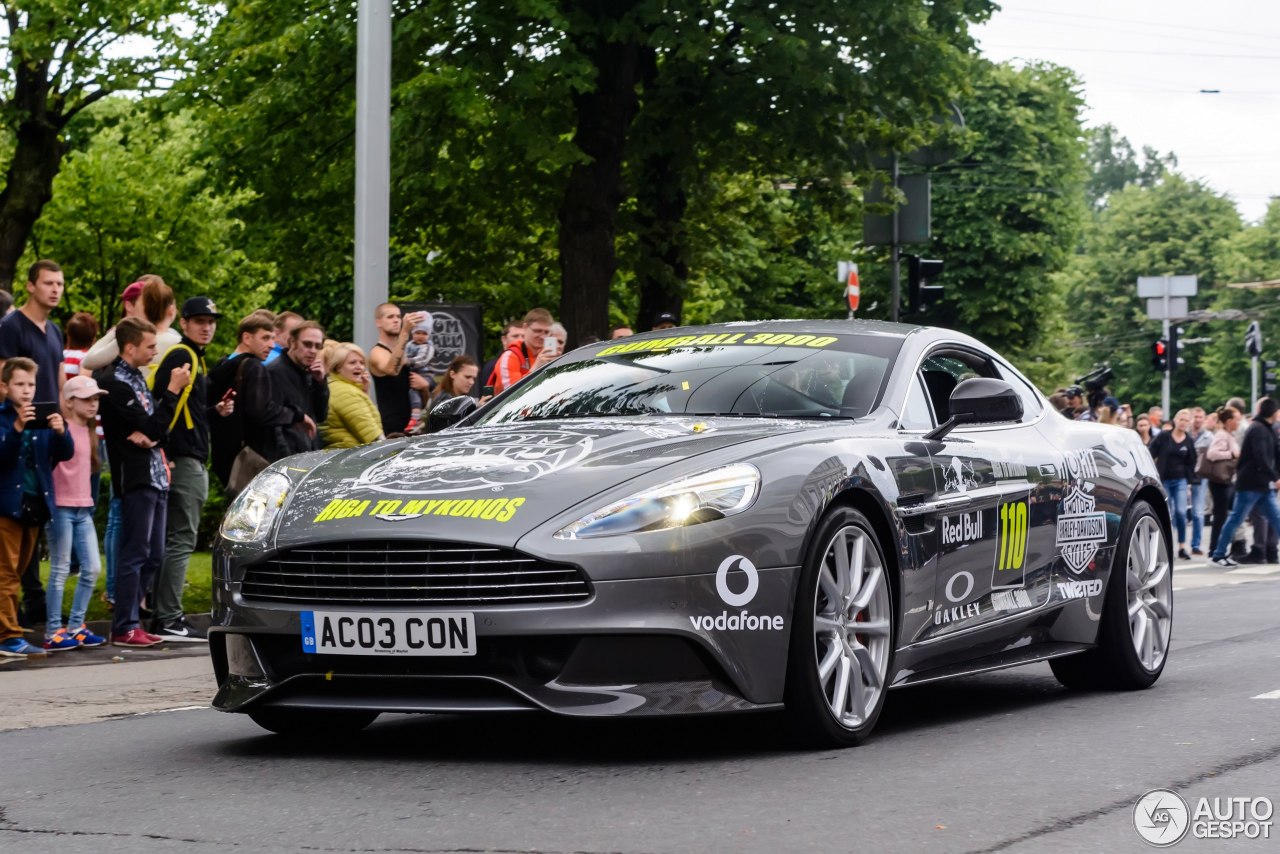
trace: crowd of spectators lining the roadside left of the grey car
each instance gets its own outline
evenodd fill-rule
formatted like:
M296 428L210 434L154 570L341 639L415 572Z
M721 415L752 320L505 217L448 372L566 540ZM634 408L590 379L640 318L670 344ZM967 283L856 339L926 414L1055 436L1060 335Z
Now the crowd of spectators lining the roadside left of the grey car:
M115 326L99 335L92 315L77 312L64 339L51 316L64 289L60 265L42 260L28 270L20 306L0 291L0 657L8 658L207 640L182 598L210 471L233 497L285 456L422 431L434 406L466 394L484 402L567 343L564 326L534 309L507 324L502 351L484 366L463 355L436 374L431 315L388 302L371 319L378 343L369 353L326 338L298 312L257 310L239 319L234 350L215 360L206 348L224 316L207 296L179 305L161 277L142 275L120 293ZM675 324L663 315L655 328ZM104 471L110 494L101 495L100 536ZM104 567L105 636L86 622ZM24 636L33 625L44 625L42 644Z

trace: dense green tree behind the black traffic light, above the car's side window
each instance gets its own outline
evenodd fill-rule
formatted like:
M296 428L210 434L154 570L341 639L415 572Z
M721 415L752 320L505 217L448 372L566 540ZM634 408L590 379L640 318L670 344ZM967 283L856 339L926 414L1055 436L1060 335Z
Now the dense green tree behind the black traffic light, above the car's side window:
M1084 218L1079 87L1055 65L977 63L961 102L968 152L933 178L927 251L945 261L943 291L922 319L997 343L1032 374L1062 361L1044 339L1064 307L1053 277Z

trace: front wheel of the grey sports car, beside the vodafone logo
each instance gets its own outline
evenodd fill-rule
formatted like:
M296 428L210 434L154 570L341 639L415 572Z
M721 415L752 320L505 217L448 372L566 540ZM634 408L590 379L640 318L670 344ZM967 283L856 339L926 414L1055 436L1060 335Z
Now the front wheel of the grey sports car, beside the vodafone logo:
M786 714L800 744L845 748L870 735L896 640L890 567L876 530L863 513L837 507L809 543L792 609Z

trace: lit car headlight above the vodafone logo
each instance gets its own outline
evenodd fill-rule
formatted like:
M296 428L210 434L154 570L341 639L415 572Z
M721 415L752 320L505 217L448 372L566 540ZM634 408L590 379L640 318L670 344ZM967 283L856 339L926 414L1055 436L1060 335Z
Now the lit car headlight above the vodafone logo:
M556 531L586 539L685 528L741 513L760 492L755 466L737 463L628 495Z

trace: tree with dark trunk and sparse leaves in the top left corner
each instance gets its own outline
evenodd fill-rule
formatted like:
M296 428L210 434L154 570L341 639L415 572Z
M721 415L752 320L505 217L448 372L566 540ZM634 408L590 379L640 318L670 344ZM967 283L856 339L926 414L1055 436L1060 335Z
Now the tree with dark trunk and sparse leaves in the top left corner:
M0 287L12 289L69 150L69 123L113 92L163 86L180 64L180 31L198 18L189 0L10 0L3 13ZM134 44L146 49L131 55Z

